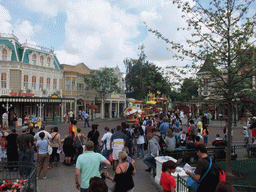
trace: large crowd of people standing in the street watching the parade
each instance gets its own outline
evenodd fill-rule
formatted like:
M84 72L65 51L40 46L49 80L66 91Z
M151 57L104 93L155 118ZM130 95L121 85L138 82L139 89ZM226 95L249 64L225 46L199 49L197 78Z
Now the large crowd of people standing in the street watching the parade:
M98 131L98 124L92 124L88 135L84 135L81 128L77 128L77 120L74 116L69 117L67 120L70 122L69 134L65 138L61 138L58 127L53 127L47 132L44 125L37 133L33 131L33 126L23 126L19 135L16 134L16 129L13 129L9 135L3 132L0 138L1 160L33 163L34 153L37 152L37 179L41 177L46 179L50 168L60 166L60 153L63 151L65 155L63 163L66 166L72 164L76 166L75 182L76 188L80 191L95 190L95 183L98 182L102 184L102 188L107 189L108 186L101 178L115 182L113 191L133 191L135 186L132 176L136 174L134 159L142 159L148 167L145 171L154 172L155 157L175 150L197 151L200 160L195 168L195 176L187 172L195 180L199 180L205 169L209 167L209 157L205 153L208 145L209 120L204 116L190 119L188 125L183 128L181 125L185 122L182 122L178 113L163 112L159 121L155 117L144 119L137 117L133 124L122 122L112 129L105 127L102 137ZM78 117L85 121L84 128L90 127L89 115L85 111L81 111ZM242 132L244 135L247 135L246 130ZM217 135L215 140L221 139ZM49 154L49 146L52 148L51 154ZM98 169L101 163L105 164L106 169L103 174L100 174ZM109 174L111 164L115 171L114 177ZM174 162L163 164L161 185L164 191L175 191L175 180L171 178L175 168ZM212 172L214 173L214 170ZM29 173L29 169L20 166L21 177ZM218 182L213 183L216 188ZM203 185L201 187L203 188Z

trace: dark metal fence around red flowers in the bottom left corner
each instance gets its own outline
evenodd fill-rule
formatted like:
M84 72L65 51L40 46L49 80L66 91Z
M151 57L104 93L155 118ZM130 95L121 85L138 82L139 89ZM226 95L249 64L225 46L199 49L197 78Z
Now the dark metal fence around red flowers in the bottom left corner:
M20 176L19 171L27 170L27 174ZM8 162L0 163L0 181L7 180L10 185L14 183L22 182L23 186L20 192L36 192L37 180L36 180L36 167L33 163L23 162ZM26 181L24 181L26 180ZM25 184L24 184L25 183Z

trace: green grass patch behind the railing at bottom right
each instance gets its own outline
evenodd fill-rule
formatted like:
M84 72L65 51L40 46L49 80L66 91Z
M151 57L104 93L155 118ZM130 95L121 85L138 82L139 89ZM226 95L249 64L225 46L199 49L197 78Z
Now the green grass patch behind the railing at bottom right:
M218 162L217 166L225 170L226 162ZM234 160L231 162L231 170L235 173L240 173L244 177L243 179L229 180L235 185L246 185L246 186L256 186L256 158L249 158L244 160Z

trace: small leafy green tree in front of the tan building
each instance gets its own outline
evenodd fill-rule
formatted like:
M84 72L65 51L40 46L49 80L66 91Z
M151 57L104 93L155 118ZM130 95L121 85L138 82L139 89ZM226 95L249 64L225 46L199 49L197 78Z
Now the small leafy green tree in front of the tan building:
M117 83L118 78L114 74L113 68L104 67L101 70L92 70L91 77L85 78L85 83L89 88L94 89L102 100L101 102L101 118L104 114L104 104L108 94L119 92Z

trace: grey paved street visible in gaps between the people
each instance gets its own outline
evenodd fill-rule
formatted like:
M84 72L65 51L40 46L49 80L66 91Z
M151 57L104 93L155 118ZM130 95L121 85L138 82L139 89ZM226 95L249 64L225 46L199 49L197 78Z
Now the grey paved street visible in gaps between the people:
M108 126L110 129L115 128L117 125L120 125L122 120L118 119L107 119L107 120L95 120L93 123L99 124L99 132L100 138L102 137L104 131L104 127ZM93 124L90 122L90 125ZM49 130L54 125L47 125L46 129ZM67 124L59 125L59 133L61 137L64 138L68 135L68 126ZM82 133L87 136L88 132L91 128L83 128L83 122L78 122L78 128L82 129ZM222 122L212 122L209 126L210 135L209 135L209 144L214 140L216 133L219 133L223 136L222 132ZM187 126L183 125L183 130L185 130ZM35 130L37 131L37 130ZM234 128L234 137L233 141L235 144L242 144L243 142L243 135L240 133L242 131L241 125L239 127ZM61 162L63 162L64 154L61 154ZM146 165L142 162L141 159L136 159L135 166L137 169L137 174L134 176L135 182L135 192L139 191L147 191L147 192L155 192L161 191L159 187L154 184L152 180L152 175L144 170L147 168ZM113 175L113 172L111 173ZM67 167L61 163L60 167L54 167L49 170L48 177L46 180L39 179L38 180L38 187L40 192L63 192L63 191L76 191L75 189L75 167L70 166ZM107 180L108 186L111 186L112 183Z

